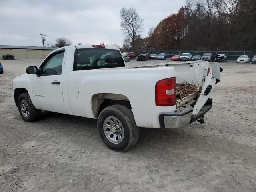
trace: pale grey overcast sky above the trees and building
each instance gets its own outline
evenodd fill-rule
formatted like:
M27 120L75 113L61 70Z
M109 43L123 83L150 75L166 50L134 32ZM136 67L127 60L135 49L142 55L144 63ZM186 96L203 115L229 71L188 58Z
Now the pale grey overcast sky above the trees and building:
M184 6L185 0L0 0L0 45L42 46L64 36L73 44L122 46L120 9L134 7L148 30Z

